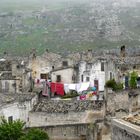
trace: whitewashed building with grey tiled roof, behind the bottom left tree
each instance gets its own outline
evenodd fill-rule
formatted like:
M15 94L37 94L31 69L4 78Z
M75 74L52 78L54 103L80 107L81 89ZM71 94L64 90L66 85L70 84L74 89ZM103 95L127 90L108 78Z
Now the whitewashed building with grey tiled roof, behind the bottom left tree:
M3 94L0 93L0 117L4 117L8 121L20 119L29 123L29 111L38 102L36 94Z

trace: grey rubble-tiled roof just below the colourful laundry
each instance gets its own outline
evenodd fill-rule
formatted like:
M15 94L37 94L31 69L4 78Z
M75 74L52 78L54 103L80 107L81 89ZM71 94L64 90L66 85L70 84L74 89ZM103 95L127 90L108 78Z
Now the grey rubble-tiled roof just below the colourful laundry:
M94 101L77 100L46 100L40 101L33 109L35 112L67 113L83 112L85 110L101 110L101 106Z

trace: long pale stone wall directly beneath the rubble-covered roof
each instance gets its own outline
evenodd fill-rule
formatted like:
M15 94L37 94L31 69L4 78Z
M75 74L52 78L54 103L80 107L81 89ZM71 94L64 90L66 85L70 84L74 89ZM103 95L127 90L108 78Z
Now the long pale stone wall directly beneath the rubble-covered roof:
M30 112L29 126L57 126L79 123L90 123L96 119L102 119L102 112L84 111L84 112L68 112L68 113L47 113L47 112Z

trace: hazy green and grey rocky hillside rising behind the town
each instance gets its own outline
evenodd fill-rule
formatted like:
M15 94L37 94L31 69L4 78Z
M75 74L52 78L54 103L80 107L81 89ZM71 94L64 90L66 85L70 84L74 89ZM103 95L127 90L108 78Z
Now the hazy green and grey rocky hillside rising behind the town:
M140 44L140 0L0 0L0 53Z

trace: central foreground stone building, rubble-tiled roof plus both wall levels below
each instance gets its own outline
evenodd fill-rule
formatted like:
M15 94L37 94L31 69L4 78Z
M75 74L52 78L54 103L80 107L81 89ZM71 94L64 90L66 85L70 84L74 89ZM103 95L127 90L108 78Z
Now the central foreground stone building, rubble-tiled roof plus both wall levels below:
M93 101L42 100L29 113L29 127L46 130L52 140L95 140L102 119Z

